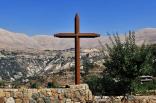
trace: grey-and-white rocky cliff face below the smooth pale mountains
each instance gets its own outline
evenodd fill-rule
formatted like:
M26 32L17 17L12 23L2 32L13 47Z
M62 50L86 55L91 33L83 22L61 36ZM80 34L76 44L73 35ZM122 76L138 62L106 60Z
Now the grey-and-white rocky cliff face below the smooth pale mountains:
M89 54L89 55L88 55ZM81 69L83 60L99 64L98 50L81 50ZM96 58L95 58L96 57ZM101 58L102 59L102 58ZM74 51L68 50L0 50L0 79L15 81L33 76L53 75L74 68Z

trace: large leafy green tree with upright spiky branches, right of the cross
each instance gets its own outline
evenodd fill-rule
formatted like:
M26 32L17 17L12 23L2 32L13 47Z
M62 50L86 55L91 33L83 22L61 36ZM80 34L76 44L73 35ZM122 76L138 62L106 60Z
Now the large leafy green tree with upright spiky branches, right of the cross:
M110 40L112 45L106 44L104 47L105 73L114 78L116 83L124 83L124 88L127 88L125 92L131 92L132 83L137 77L152 73L152 54L149 46L137 46L134 32L129 32L125 41L121 41L118 34L114 34L113 38L110 36Z

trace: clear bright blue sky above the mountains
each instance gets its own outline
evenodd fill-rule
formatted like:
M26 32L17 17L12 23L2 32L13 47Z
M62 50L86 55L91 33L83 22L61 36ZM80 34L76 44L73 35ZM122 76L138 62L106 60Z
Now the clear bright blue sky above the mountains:
M0 28L33 35L125 33L156 27L156 0L0 0Z

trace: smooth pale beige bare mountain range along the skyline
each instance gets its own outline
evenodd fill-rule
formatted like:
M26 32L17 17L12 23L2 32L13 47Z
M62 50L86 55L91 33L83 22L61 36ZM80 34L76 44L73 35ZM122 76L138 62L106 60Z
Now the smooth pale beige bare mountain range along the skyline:
M124 39L124 36L121 36ZM99 38L81 39L81 48L99 47L102 43L109 43L108 36ZM144 28L136 31L136 42L138 44L156 43L156 28ZM63 50L74 48L73 39L54 38L53 35L28 36L24 33L11 32L0 29L0 48L5 49L41 49L41 50Z

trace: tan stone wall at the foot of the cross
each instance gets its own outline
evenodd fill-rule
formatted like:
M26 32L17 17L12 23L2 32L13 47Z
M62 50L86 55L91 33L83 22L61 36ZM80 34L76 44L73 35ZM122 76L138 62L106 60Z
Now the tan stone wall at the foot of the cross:
M86 103L92 100L88 85L70 88L0 89L0 103Z

